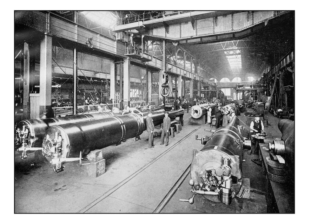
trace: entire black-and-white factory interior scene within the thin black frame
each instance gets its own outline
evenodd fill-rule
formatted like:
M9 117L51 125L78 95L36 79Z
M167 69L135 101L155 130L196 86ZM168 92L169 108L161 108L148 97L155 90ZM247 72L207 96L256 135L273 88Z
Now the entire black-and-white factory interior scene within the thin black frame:
M14 11L14 213L294 214L295 14Z

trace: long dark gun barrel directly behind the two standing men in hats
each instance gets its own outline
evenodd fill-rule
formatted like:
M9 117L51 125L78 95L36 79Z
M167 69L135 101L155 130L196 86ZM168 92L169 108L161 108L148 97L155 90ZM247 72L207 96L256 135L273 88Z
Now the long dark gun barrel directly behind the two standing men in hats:
M183 110L169 113L171 119L183 116ZM163 122L164 110L153 112L154 125ZM90 151L121 144L130 138L139 138L146 130L143 114L125 114L99 120L66 123L49 127L44 134L42 153L54 165L56 173L63 170L66 161L78 160L80 151L86 156ZM75 158L74 158L75 157ZM81 157L81 156L79 156Z

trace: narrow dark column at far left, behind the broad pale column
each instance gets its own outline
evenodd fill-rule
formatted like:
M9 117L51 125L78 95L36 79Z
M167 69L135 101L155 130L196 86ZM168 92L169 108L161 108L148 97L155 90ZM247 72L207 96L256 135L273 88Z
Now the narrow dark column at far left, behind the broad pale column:
M23 119L30 118L29 85L30 84L30 54L29 44L23 44Z

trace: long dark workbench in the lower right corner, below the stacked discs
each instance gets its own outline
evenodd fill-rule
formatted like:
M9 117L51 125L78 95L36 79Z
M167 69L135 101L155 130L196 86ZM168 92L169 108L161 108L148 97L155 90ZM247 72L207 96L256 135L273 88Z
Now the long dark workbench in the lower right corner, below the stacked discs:
M266 150L266 149L267 150ZM295 213L295 188L292 183L277 183L268 179L268 165L266 157L269 156L267 143L259 143L260 159L262 159L263 172L266 175L267 184L267 212L268 213Z

